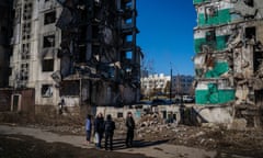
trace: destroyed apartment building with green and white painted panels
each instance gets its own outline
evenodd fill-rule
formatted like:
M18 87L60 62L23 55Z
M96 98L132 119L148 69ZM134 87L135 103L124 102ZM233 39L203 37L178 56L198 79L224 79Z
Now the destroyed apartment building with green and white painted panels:
M194 0L194 5L196 111L208 122L262 125L262 0Z

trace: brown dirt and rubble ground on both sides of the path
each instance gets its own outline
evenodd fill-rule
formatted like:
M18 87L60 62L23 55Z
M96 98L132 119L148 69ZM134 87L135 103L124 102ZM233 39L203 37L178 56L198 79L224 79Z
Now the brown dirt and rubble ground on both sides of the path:
M34 116L25 114L0 114L0 123L20 125L33 128L43 128L58 134L84 136L83 119L79 116ZM125 133L121 123L116 121L115 136L122 137ZM139 132L140 131L140 132ZM221 126L186 126L175 124L161 124L137 126L136 140L147 143L165 143L186 147L216 150L220 157L261 158L263 156L263 131L247 128L245 131L229 131ZM221 155L224 153L224 156ZM45 143L32 137L21 135L0 136L0 158L8 157L133 157L144 158L142 155L108 153L104 150L82 149L67 144ZM181 156L179 156L181 157ZM184 156L182 156L184 157Z

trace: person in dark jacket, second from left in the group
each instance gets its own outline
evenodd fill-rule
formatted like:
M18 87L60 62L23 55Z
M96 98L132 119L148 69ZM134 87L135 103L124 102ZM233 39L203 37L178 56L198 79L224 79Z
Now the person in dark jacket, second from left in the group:
M104 134L104 119L103 114L99 113L96 115L96 119L94 120L94 135L99 135L99 140L95 144L98 149L102 148L101 142L103 138L103 134Z

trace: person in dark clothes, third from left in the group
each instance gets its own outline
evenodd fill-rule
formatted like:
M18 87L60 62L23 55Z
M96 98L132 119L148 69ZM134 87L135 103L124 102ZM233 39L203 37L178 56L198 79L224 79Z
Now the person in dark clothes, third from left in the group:
M112 115L108 114L106 116L106 121L104 122L104 131L105 131L105 150L107 150L107 145L110 140L110 149L113 150L113 135L115 129L115 122L112 121Z

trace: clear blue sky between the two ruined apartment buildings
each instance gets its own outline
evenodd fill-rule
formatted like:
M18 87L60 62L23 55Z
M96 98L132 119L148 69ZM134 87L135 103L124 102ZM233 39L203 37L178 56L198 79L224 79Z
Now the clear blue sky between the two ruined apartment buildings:
M153 71L170 75L172 67L173 75L194 75L193 0L137 0L137 45Z

